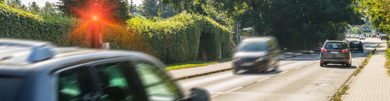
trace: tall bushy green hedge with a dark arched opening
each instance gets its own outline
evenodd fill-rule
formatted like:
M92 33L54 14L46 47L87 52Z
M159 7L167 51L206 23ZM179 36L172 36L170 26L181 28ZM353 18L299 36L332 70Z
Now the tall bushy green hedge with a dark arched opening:
M231 56L231 33L208 17L181 13L158 21L138 17L127 24L140 34L147 53L166 63L193 61L202 51L207 52L208 59L214 60L220 48L223 58Z

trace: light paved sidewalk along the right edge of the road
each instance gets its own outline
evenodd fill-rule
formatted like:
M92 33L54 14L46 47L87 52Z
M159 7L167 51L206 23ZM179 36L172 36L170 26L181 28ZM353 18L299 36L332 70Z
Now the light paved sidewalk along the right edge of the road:
M390 77L385 68L386 43L376 49L362 72L354 77L349 89L341 98L345 100L390 100Z

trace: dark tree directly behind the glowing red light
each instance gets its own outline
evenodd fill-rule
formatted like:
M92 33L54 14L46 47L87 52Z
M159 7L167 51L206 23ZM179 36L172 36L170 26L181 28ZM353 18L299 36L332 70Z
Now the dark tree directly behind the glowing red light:
M92 5L102 5L103 19L124 22L130 18L129 5L127 0L59 0L58 9L68 15L77 18L88 18L88 13Z

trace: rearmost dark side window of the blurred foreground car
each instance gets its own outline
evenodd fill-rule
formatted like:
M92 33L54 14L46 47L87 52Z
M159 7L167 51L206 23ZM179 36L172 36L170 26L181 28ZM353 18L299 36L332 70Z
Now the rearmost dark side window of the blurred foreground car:
M58 99L60 101L68 100L89 100L88 95L92 95L91 89L88 89L91 83L90 76L85 67L78 67L59 73L58 79Z

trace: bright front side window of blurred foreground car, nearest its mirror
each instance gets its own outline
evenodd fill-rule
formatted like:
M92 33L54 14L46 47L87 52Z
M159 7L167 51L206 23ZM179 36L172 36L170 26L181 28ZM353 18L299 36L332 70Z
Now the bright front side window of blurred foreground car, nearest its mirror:
M133 64L149 100L177 100L180 98L178 87L170 80L164 70L144 61L134 61Z

